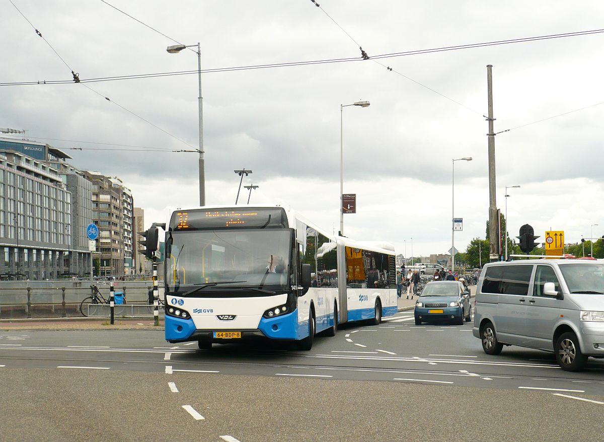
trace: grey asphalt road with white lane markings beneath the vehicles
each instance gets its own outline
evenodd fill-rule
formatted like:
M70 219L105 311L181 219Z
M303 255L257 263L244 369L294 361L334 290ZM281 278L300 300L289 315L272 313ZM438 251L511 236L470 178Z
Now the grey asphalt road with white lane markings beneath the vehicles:
M471 323L420 327L412 312L308 352L204 351L159 330L0 331L0 366L0 440L602 439L604 362L568 373L540 351L488 356Z

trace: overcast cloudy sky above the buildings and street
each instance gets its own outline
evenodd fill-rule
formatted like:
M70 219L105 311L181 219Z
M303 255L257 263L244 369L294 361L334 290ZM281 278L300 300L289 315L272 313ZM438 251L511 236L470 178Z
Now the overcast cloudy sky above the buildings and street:
M201 42L202 69L220 69L353 59L359 45L372 57L600 30L604 16L599 0L318 3L1 0L0 127L25 129L65 149L76 167L120 177L150 225L167 207L199 203L198 154L159 150L198 148L197 56L169 54L168 45ZM542 238L551 228L576 242L597 223L601 236L603 60L604 33L595 33L204 73L207 203L233 204L233 170L245 167L253 173L243 184L260 186L251 203L291 205L337 232L340 104L368 100L344 108L344 193L358 203L357 214L345 215L345 233L390 241L406 255L411 238L414 255L446 253L452 159L472 156L455 162L455 216L464 219L455 246L463 251L484 237L488 217L490 64L495 131L512 129L495 139L503 212L504 187L521 185L509 190L510 235L529 223ZM69 81L71 70L82 80L191 74L5 85Z

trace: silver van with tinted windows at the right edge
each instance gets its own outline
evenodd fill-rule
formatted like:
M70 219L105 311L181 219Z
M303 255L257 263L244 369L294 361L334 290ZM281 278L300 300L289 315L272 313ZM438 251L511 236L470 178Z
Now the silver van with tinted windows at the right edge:
M472 333L484 353L503 345L553 351L563 370L604 358L604 260L527 260L485 264Z

